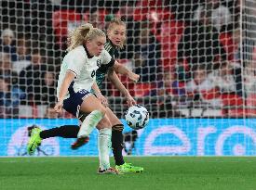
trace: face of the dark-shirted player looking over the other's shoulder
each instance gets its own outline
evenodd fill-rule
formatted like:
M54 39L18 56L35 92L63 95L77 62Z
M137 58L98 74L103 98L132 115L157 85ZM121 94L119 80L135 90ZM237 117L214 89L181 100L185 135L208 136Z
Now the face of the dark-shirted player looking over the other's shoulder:
M108 30L108 38L115 46L120 47L126 40L126 27L115 24Z

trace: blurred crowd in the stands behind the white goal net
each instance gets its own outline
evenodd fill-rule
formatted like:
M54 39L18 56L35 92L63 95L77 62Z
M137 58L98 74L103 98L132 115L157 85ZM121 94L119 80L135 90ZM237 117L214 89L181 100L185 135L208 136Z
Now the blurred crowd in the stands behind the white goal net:
M118 61L141 75L136 84L120 79L131 95L144 98L139 103L155 107L155 117L182 117L175 107L191 103L244 116L244 106L256 106L256 6L241 2L3 0L0 118L58 117L52 108L68 32L87 22L105 31L114 17L127 23ZM109 82L104 93L120 96Z

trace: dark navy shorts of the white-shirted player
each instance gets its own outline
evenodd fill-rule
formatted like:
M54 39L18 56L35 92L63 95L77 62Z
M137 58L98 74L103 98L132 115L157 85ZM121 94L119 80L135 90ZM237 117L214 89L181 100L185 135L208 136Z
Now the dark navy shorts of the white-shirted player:
M86 97L88 95L92 95L89 91L87 90L80 90L77 93L74 92L74 82L72 82L69 86L69 98L65 99L63 101L63 108L74 115L74 117L79 118L79 111L80 107Z

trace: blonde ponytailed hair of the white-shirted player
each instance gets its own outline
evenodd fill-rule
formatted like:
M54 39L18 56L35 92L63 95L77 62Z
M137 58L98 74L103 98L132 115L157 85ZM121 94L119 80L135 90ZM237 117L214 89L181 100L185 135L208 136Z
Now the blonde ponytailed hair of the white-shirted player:
M105 33L98 28L93 28L89 23L81 25L68 35L68 51L84 44L87 40L92 40L98 36L106 37Z

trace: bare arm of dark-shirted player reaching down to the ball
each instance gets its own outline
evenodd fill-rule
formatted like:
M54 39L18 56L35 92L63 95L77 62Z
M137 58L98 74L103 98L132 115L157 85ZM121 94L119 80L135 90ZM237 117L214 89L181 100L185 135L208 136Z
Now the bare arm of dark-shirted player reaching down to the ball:
M119 90L122 95L124 95L126 97L129 107L136 104L136 101L129 94L128 89L126 89L126 87L120 81L119 77L115 73L115 70L109 70L108 71L108 79L109 79L110 82L112 82L115 85L115 88L117 90Z

